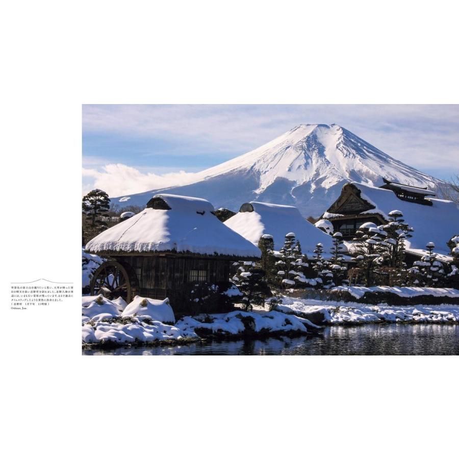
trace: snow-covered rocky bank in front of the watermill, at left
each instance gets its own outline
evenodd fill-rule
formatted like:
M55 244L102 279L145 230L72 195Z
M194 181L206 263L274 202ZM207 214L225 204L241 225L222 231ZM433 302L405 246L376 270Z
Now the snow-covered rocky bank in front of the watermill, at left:
M124 303L124 304L123 304ZM136 296L130 304L110 301L103 296L82 298L82 341L84 344L160 344L183 342L201 336L228 337L248 333L308 333L319 328L308 319L278 311L233 311L227 314L201 314L175 322L169 301ZM196 331L195 331L196 330Z

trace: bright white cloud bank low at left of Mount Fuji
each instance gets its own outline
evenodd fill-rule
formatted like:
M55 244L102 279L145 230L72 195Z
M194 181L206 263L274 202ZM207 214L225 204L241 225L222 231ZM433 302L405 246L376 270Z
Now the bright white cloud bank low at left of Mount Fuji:
M94 188L99 188L106 191L109 196L117 197L159 188L186 185L192 183L197 174L183 170L165 174L143 173L135 167L118 163L108 164L102 170L83 168L82 175L84 177L84 194Z

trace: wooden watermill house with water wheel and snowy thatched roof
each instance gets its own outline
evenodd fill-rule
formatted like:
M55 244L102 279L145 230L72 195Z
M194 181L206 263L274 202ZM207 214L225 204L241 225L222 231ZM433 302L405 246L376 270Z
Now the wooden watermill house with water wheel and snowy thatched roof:
M225 226L209 201L158 194L146 209L96 236L86 251L111 260L94 273L91 292L171 300L180 309L187 286L227 282L235 260L260 250ZM119 279L115 279L116 277Z

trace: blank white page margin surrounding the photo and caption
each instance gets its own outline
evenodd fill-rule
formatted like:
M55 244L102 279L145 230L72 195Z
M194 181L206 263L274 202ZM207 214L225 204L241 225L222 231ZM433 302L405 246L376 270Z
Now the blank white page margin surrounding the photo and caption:
M457 6L4 9L6 457L449 457L457 357L81 356L81 105L458 103ZM38 277L74 300L10 310Z

